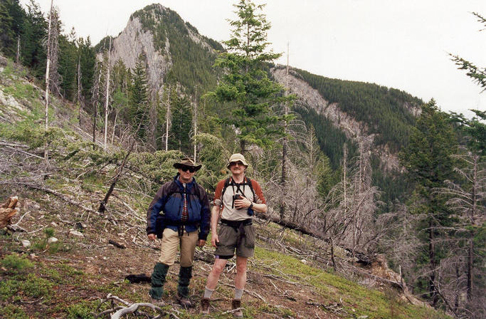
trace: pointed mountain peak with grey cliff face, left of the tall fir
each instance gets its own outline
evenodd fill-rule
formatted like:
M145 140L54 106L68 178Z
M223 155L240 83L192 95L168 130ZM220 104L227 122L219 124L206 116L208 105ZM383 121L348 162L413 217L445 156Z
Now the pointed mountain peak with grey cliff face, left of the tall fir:
M216 41L209 41L211 39L201 36L176 12L152 4L132 14L125 29L113 40L111 64L121 60L127 68L133 69L142 54L152 88L160 90L171 70L179 85L187 87L189 83L184 80L188 72L184 68L197 74L201 73L201 68L211 69L213 61L200 58L216 56L213 48ZM189 61L190 56L195 60Z

